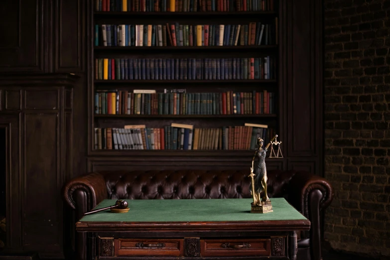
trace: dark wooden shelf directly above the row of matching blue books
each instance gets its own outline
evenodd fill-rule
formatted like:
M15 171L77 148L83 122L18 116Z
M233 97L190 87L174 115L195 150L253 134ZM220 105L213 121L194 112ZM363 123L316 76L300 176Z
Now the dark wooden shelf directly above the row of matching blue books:
M95 51L152 51L152 50L262 50L276 49L277 45L247 46L94 46Z

